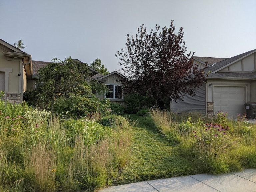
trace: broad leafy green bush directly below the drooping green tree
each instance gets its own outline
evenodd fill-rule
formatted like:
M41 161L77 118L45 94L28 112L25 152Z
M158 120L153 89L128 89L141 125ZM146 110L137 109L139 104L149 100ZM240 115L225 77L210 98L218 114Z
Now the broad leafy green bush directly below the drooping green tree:
M94 113L106 116L111 111L110 103L107 99L98 99L95 96L91 98L79 96L60 97L56 99L53 110L58 114L69 111L71 117L90 117Z

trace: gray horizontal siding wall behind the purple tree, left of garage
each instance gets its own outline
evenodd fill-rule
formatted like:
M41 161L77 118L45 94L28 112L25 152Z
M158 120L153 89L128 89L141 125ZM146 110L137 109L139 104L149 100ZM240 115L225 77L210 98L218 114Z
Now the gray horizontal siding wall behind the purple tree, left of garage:
M206 114L206 85L205 83L198 89L194 97L185 95L183 101L178 100L177 103L171 104L171 112L188 113L199 112Z

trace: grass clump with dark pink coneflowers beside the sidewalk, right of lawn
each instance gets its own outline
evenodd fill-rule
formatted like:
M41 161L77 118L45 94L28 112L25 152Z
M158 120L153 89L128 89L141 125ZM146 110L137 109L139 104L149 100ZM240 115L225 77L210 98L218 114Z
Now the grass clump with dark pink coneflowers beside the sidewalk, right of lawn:
M230 127L217 123L226 123L226 115L218 114L216 123L204 124L199 117L190 137L180 145L181 150L203 172L221 174L241 170L237 158L231 158L230 151L236 143L231 138Z

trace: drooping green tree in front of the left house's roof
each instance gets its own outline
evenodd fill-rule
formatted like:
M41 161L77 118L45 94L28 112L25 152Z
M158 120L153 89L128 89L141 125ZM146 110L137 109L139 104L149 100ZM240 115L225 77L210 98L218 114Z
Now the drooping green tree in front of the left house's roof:
M102 83L90 80L90 70L86 63L71 57L64 61L53 58L53 63L38 70L38 87L24 93L25 101L31 105L43 103L44 107L51 108L59 97L88 96L92 86L96 92L107 90Z

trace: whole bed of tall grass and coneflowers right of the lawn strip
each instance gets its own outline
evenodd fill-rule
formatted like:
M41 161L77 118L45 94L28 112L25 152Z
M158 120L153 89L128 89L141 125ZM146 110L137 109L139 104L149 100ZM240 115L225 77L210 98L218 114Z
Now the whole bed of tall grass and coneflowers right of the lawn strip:
M221 174L256 168L256 125L244 119L230 121L226 116L219 112L209 123L198 114L185 118L152 109L148 120L169 140L179 143L183 155L203 172Z

